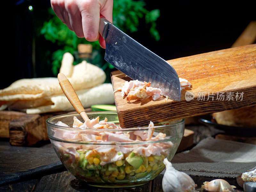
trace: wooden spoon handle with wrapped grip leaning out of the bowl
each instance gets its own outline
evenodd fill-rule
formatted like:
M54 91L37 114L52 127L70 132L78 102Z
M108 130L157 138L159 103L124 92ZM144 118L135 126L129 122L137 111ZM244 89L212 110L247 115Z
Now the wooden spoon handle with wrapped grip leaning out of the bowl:
M77 94L76 94L74 88L72 87L71 83L68 81L67 77L63 73L59 73L58 80L59 80L59 84L60 84L62 91L68 98L71 105L76 109L77 113L81 115L81 117L84 119L84 121L89 119L89 117L86 115L86 113L84 111L84 107L83 107L81 101L77 97Z

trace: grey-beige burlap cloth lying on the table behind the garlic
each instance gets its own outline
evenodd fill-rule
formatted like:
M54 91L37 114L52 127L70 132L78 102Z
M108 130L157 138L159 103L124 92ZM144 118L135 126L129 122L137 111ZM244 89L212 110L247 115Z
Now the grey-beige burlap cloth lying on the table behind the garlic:
M256 145L208 137L171 163L189 175L234 178L256 166Z

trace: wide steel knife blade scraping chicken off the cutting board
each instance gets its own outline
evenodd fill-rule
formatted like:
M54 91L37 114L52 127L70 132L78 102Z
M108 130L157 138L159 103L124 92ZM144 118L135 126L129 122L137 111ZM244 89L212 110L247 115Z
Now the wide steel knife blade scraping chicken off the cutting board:
M164 59L100 17L99 33L106 42L105 60L130 78L151 82L161 95L180 101L180 81Z

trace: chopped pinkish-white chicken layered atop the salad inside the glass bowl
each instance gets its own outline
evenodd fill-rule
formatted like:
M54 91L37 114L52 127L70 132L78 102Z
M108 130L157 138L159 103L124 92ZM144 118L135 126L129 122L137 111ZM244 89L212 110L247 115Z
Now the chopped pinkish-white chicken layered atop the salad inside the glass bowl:
M119 129L122 128L119 125L116 125L111 122L107 122L107 118L103 121L99 121L99 117L89 120L87 119L84 123L79 121L74 116L74 123L72 130L64 130L64 129L56 129L54 131L54 137L59 139L65 139L70 141L84 141L89 143L137 143L141 141L157 141L163 140L166 137L166 134L161 132L154 132L154 123L150 121L148 125L148 130L135 130L130 132L122 132L122 131L112 131L109 129ZM62 122L58 122L56 125L66 126L67 124L63 124ZM68 128L67 128L68 129ZM82 145L82 148L86 148L86 150L95 150L100 154L101 165L115 162L117 160L123 159L123 155L120 156L120 153L127 154L128 152L134 151L135 153L150 156L150 155L161 155L167 153L167 151L172 147L172 142L168 144L161 143L153 143L147 144L147 147L143 147L143 145L113 145L108 147L106 145L102 145L98 148L91 148L86 145ZM64 146L63 146L64 147ZM169 148L169 149L168 149ZM75 149L65 147L65 153L72 155L75 159L74 154ZM117 151L120 152L117 155ZM91 154L92 155L92 154ZM73 161L73 158L72 158Z

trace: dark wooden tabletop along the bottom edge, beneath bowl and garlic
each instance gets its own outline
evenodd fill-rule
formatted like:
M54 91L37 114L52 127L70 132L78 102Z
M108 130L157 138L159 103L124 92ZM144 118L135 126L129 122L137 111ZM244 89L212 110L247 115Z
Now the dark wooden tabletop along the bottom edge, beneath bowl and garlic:
M39 179L31 179L19 183L9 184L0 187L1 191L33 191L33 192L50 192L50 191L70 191L70 192L162 192L162 179L163 175L158 175L153 181L145 185L131 188L98 188L86 185L85 183L77 180L73 175L68 171L63 171L59 173L54 173L46 175ZM210 181L217 178L211 177L198 177L192 176L192 179L197 184L197 190L202 191L201 185L204 181ZM230 178L224 178L231 185L236 185L236 181ZM242 188L234 189L234 192L243 192Z

